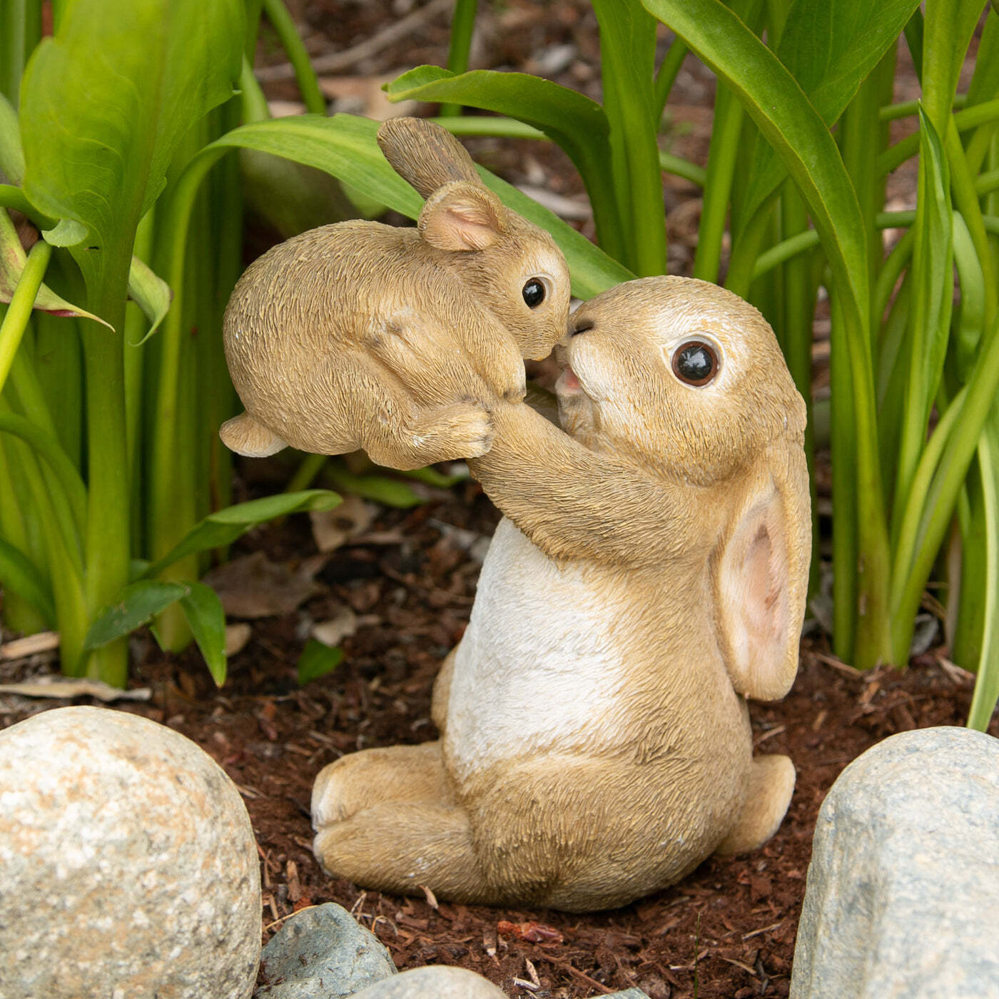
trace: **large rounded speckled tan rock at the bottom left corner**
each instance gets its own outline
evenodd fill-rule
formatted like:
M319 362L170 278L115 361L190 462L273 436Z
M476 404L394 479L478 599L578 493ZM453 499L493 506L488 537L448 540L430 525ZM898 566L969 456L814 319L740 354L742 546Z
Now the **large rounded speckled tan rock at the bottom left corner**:
M0 996L247 999L260 868L233 782L100 707L0 732Z

